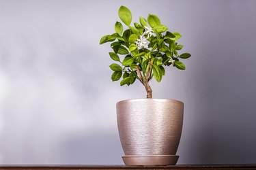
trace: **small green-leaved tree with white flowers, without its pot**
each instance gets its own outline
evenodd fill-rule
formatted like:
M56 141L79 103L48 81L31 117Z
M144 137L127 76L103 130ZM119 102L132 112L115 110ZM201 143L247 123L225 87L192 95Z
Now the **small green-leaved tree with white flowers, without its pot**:
M150 80L154 77L157 82L165 75L163 66L173 66L184 70L186 67L180 58L189 58L189 53L177 54L183 46L177 44L182 37L180 33L169 32L164 24L161 24L158 16L149 14L147 20L139 17L139 22L132 22L132 14L127 7L121 6L118 12L119 18L128 29L124 31L121 22L115 22L115 33L104 35L100 44L113 41L109 56L117 63L109 67L114 71L111 75L113 81L120 80L120 85L130 85L139 80L147 91L147 98L152 98ZM122 60L119 56L123 56Z

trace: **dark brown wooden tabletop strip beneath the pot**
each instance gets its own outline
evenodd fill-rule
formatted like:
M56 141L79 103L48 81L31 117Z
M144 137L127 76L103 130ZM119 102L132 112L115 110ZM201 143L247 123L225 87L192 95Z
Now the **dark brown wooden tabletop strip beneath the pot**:
M175 166L125 166L125 165L0 165L0 170L83 170L83 169L177 169L177 170L256 170L255 165L175 165Z

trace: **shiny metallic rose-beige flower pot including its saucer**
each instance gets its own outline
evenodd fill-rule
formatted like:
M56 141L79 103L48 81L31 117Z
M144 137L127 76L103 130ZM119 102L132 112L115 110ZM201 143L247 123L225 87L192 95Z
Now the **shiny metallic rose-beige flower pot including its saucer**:
M175 165L184 104L171 99L117 103L117 125L125 165Z

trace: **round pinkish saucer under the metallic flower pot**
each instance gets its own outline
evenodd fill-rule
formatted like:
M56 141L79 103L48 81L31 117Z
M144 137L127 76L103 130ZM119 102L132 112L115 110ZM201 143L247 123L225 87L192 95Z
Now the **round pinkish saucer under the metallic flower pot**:
M146 156L135 156L126 155L122 156L125 165L176 165L177 155L146 155Z

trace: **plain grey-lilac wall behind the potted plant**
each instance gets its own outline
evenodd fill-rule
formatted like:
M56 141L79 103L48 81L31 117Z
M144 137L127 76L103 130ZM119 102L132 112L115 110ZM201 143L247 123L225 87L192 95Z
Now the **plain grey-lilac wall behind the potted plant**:
M111 82L117 11L156 14L183 37L186 71L155 98L184 101L178 164L256 163L256 1L1 1L0 164L123 164L115 103L144 98Z

